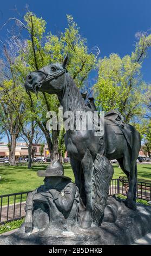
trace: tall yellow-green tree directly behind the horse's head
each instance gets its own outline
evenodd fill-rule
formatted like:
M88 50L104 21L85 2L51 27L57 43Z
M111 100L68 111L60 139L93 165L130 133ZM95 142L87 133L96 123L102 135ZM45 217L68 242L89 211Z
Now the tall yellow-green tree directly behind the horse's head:
M30 71L35 71L53 62L62 62L63 56L68 52L70 58L68 71L73 76L78 87L88 77L96 61L95 54L88 52L87 41L79 34L79 28L73 17L67 16L68 28L60 36L52 35L51 32L45 34L46 22L35 14L28 12L24 16L25 25L19 21L17 24L25 28L29 39L25 40L25 47L20 47L19 55L16 58L16 70L21 75L21 81ZM16 39L15 39L16 40ZM18 45L18 41L16 41ZM19 42L20 44L20 42ZM30 95L30 93L29 93ZM51 152L51 160L58 157L58 136L59 131L47 130L46 114L48 111L56 111L59 106L56 95L39 93L38 100L35 95L30 95L30 100L34 102L35 121L44 132L45 138Z

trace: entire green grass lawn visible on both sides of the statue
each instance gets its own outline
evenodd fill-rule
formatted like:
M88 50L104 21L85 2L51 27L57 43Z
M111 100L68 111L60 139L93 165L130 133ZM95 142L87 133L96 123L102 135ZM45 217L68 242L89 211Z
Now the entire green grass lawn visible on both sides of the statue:
M47 164L34 164L32 169L27 166L0 166L0 195L31 191L43 184L43 179L37 176L36 172L45 169ZM151 164L137 164L138 179L151 181ZM74 182L74 174L69 163L64 163L65 176L69 176ZM114 164L113 178L126 176L117 164Z

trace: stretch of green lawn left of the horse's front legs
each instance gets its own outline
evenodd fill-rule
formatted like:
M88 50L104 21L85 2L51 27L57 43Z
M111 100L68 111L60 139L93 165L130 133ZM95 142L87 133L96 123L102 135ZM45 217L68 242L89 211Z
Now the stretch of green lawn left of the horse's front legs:
M48 164L26 166L0 166L0 195L31 191L43 184L44 177L37 176L37 170L44 170ZM64 164L64 174L74 181L70 164Z

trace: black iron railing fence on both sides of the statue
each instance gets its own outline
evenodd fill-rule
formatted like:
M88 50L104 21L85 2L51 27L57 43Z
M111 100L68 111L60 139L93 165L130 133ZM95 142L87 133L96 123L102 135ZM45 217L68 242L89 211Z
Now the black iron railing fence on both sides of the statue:
M109 196L113 194L126 195L128 191L127 179L112 179L109 187ZM28 196L27 192L5 194L0 196L0 223L18 220L25 216L24 206ZM139 199L151 200L151 183L137 181L136 196Z

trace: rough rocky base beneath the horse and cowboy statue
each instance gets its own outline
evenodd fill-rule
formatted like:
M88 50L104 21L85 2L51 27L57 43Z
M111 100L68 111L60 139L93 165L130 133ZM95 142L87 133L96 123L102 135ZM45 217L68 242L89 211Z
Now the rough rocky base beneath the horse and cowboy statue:
M1 236L0 245L130 245L151 231L151 206L137 204L128 209L124 200L111 197L100 227L81 229L77 224L51 223L44 230L24 232L24 224L15 233Z

